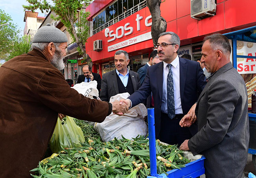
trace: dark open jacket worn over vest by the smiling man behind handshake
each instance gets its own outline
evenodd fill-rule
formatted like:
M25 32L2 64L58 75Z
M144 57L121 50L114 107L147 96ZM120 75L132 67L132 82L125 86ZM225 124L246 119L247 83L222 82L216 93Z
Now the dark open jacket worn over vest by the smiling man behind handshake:
M132 79L132 85L134 87L134 91L138 90L141 86L139 82L139 74L129 70L129 75ZM117 85L117 74L115 70L104 73L102 76L102 85L101 85L101 93L100 99L102 101L109 101L111 96L119 94L118 85Z

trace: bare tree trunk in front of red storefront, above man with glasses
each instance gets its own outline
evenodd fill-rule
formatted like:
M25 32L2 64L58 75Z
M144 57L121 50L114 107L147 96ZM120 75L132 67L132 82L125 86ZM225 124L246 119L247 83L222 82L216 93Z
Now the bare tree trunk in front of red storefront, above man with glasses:
M147 0L147 6L152 15L151 35L154 46L158 42L158 35L166 31L166 20L161 17L160 11L161 0Z

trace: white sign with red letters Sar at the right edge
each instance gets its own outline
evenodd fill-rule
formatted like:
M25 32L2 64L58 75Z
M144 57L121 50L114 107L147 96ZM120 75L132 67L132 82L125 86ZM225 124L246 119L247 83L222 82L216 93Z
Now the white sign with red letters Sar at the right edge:
M237 55L256 56L256 43L237 41ZM256 73L256 59L237 58L237 72Z

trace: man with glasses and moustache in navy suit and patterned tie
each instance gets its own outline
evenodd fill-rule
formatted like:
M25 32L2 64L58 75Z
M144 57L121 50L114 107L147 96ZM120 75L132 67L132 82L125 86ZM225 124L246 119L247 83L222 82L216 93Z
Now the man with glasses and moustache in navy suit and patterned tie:
M196 127L183 129L179 122L206 85L199 63L178 57L179 46L178 35L173 32L161 33L156 48L163 62L149 67L141 88L127 100L122 100L128 106L136 106L152 92L156 138L171 145L180 145L197 132ZM167 93L170 97L167 97Z

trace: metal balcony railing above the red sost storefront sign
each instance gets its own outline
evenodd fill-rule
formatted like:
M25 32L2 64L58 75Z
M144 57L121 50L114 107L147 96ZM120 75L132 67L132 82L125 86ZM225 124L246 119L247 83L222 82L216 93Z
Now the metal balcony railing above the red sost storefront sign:
M123 20L124 18L136 13L137 11L143 9L144 7L147 6L147 0L144 0L142 2L140 2L139 4L137 4L136 6L132 7L131 9L128 9L127 11L125 11L124 13L120 14L119 16L109 20L108 22L106 22L105 24L103 24L102 26L96 28L93 30L92 35L95 35L96 33L104 30L105 28L108 28L109 26Z

